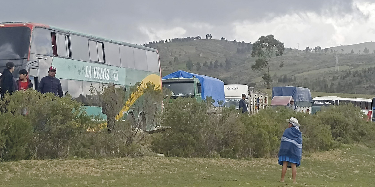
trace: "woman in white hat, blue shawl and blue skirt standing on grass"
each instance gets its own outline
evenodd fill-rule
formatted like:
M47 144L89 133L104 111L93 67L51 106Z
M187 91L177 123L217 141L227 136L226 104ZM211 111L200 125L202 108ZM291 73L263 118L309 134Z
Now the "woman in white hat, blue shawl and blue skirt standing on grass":
M292 168L293 183L296 182L297 167L301 164L302 157L302 133L300 131L300 124L294 117L287 119L289 126L285 129L281 137L281 144L279 150L279 161L282 165L281 180L284 183L284 177L287 173L287 168Z

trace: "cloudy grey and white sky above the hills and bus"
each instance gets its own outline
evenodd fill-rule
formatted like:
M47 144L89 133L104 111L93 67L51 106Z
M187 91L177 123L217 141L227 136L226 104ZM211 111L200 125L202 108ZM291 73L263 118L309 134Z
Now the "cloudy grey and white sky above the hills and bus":
M299 49L375 41L375 0L3 0L1 7L0 22L130 43L207 33L245 42L273 34Z

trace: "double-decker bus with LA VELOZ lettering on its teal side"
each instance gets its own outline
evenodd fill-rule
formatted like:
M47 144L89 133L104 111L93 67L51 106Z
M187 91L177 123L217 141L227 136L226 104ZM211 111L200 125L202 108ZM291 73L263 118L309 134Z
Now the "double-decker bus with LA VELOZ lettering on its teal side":
M37 89L48 68L57 68L63 93L82 101L89 114L105 117L101 107L89 106L90 87L113 82L129 87L136 82L161 86L159 53L156 49L77 33L45 24L0 23L0 72L7 62L15 64L13 77L26 69ZM139 95L138 95L139 96ZM134 99L129 102L134 102ZM119 117L127 113L123 108Z

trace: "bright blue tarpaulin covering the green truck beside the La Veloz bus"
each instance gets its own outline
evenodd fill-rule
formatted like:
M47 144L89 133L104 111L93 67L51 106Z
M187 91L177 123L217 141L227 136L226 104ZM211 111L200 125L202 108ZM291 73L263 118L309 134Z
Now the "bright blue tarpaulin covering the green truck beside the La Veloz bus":
M189 73L186 71L176 71L171 74L164 76L162 79L171 79L171 78L192 78L195 76L199 79L202 85L202 99L205 100L206 96L211 96L215 100L214 105L219 106L217 101L225 102L224 94L224 82L219 79L208 77L205 75L198 75L195 73Z

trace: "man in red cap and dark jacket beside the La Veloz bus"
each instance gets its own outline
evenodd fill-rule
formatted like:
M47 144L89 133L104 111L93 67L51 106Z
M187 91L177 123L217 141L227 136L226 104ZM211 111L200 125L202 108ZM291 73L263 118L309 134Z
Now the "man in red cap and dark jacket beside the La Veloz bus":
M60 80L58 80L56 77L56 68L54 66L51 66L48 68L48 76L43 77L40 80L39 86L38 86L38 92L40 93L54 93L55 96L63 96L63 89L60 83Z

